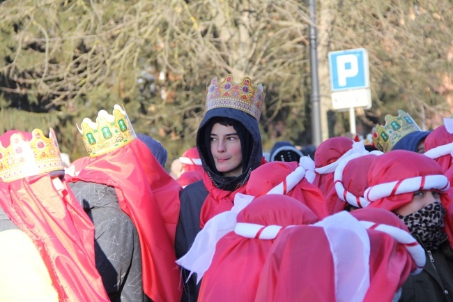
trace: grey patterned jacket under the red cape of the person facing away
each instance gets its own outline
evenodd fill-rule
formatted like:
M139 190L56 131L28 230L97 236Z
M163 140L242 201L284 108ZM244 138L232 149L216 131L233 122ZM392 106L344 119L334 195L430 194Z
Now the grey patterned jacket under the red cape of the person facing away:
M137 228L120 209L113 187L100 183L69 183L94 224L95 264L109 299L151 301L141 282L141 250Z

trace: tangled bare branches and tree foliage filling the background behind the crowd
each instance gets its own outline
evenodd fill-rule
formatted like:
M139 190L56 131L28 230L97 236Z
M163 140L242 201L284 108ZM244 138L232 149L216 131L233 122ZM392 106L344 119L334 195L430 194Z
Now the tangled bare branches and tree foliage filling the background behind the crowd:
M332 22L318 27L329 33L318 48L368 50L369 115L449 110L451 1L331 0L318 8L326 2ZM77 158L86 153L75 125L118 103L137 133L176 158L194 146L206 85L232 73L266 89L264 149L276 139L309 143L307 1L8 0L0 8L3 130L56 128L61 149Z

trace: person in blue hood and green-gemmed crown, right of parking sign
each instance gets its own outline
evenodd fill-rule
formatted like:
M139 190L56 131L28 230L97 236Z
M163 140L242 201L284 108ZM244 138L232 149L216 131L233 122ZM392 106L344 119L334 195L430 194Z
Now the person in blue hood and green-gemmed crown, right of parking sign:
M384 153L392 150L407 150L424 153L424 140L431 131L422 131L410 114L398 110L398 116L387 114L385 125L376 125L372 130L374 145Z

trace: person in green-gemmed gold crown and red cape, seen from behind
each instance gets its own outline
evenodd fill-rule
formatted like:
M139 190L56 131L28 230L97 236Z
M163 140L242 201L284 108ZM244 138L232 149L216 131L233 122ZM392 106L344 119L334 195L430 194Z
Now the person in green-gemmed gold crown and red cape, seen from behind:
M96 266L112 301L176 302L174 237L181 186L135 134L125 110L100 110L79 128L88 158L67 170L95 225Z

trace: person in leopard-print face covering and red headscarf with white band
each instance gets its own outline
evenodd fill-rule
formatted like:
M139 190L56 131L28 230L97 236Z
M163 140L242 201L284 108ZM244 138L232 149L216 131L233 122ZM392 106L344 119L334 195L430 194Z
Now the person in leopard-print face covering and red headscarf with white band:
M442 167L422 154L395 150L373 160L368 183L368 207L395 213L427 255L422 273L409 276L399 301L453 301L452 200Z

